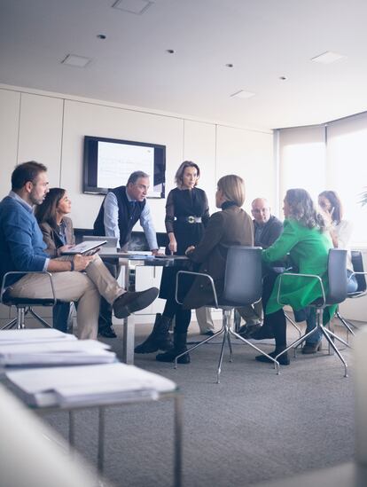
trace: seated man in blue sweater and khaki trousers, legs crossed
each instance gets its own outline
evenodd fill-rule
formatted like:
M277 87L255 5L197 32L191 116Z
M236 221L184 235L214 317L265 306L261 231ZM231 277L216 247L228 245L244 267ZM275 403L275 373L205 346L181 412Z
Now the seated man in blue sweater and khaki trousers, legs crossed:
M158 289L126 292L98 255L50 259L33 214L33 206L41 205L49 191L46 171L43 164L29 161L12 172L12 191L0 203L0 279L10 271L38 272L12 276L6 283L7 292L20 298L46 298L51 296L50 279L40 271L51 272L56 298L78 302L79 337L96 339L101 295L113 306L117 318L126 318L149 306L157 297Z

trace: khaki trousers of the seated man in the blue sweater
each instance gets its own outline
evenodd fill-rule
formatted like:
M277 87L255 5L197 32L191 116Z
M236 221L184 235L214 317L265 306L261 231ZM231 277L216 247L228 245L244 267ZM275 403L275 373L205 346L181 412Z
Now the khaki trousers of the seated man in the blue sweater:
M58 260L70 260L60 257ZM53 272L52 283L56 298L65 302L78 302L78 336L81 339L97 338L99 301L102 295L107 302L125 293L113 279L105 264L97 255L85 272ZM46 274L27 274L12 286L14 297L52 297L50 278Z

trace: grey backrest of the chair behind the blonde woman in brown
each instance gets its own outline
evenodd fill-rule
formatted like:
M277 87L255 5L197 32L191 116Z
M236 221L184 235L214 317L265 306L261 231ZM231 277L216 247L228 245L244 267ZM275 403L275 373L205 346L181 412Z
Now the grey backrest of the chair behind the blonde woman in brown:
M236 306L257 302L262 297L262 248L228 249L223 301Z

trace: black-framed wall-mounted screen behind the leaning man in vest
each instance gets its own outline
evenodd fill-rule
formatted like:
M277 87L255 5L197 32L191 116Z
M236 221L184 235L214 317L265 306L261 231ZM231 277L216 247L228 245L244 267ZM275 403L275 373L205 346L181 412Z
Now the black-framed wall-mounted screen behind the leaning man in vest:
M148 198L164 198L166 145L85 136L83 170L83 192L105 194L142 170L150 176Z

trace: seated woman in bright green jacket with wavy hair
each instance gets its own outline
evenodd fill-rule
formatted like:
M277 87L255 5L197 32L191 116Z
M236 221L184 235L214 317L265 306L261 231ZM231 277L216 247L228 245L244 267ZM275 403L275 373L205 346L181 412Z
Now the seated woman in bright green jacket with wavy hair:
M262 253L263 262L269 265L269 272L264 278L262 302L266 310L264 326L272 328L276 340L276 350L269 354L272 357L276 357L286 348L286 325L282 305L277 302L279 277L271 270L271 263L289 254L293 268L301 274L320 276L327 292L327 260L329 249L332 248L329 234L324 232L324 219L316 212L306 190L288 190L283 210L284 231L274 244ZM280 302L290 304L294 310L305 308L321 296L321 288L316 279L300 276L282 280ZM256 359L260 362L269 361L265 356ZM289 365L286 353L279 357L279 363Z

